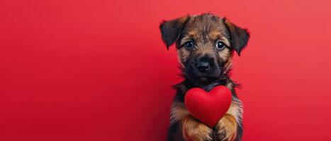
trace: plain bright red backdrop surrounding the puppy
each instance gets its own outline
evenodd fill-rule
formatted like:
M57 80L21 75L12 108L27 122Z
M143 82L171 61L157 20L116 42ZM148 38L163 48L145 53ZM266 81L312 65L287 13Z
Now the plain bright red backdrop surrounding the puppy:
M159 22L212 11L247 27L235 56L244 140L331 140L331 2L0 2L0 140L164 140L174 47Z

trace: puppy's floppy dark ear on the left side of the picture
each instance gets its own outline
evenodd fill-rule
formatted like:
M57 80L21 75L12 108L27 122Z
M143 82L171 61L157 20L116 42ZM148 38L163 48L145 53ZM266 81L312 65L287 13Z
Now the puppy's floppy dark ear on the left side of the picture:
M181 30L183 30L184 24L188 19L189 16L176 18L174 20L163 20L159 25L162 40L164 44L166 44L167 49L169 49L169 46L174 44L174 42L176 42L176 40L179 38L181 35Z

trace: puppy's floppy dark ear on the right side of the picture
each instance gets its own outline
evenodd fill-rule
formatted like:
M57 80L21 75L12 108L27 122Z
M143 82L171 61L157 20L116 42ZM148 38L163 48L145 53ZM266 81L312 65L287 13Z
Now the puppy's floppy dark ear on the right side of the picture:
M231 23L229 20L225 20L225 25L228 26L228 30L230 32L230 43L233 49L237 51L238 56L240 56L240 52L247 45L249 40L249 32L247 29L242 27L238 27L237 25Z

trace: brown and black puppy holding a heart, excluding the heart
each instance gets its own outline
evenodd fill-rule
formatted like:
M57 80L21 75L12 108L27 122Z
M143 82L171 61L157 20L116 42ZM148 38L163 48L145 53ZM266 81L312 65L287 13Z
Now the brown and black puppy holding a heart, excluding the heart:
M240 55L249 32L211 13L163 21L159 29L167 48L176 44L185 78L175 86L167 140L242 140L242 102L228 74L232 56L235 51ZM210 91L217 85L231 90L232 103L215 128L209 128L187 111L184 96L193 87Z

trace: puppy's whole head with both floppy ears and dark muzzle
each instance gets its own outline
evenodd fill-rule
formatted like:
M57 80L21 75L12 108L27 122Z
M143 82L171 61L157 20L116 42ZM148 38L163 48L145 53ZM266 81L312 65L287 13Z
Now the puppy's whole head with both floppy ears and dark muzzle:
M249 39L247 30L210 13L164 21L159 28L167 48L176 42L186 78L200 84L227 73L233 52L240 55Z

